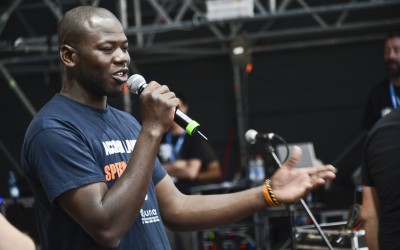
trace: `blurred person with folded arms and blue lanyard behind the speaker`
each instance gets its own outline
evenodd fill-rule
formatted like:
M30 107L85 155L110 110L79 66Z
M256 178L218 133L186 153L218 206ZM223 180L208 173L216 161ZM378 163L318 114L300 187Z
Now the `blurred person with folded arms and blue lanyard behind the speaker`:
M183 94L178 94L179 109L186 113L189 105ZM160 145L159 158L175 186L183 194L191 194L191 188L221 179L221 164L208 141L186 131L175 122L165 133ZM167 230L172 249L193 249L191 232Z

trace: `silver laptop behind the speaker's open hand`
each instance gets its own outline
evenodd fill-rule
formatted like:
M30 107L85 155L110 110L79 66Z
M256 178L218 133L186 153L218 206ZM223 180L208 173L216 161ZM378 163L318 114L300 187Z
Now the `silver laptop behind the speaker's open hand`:
M299 146L302 149L302 155L300 162L296 165L297 168L312 167L318 164L318 160L315 157L314 145L312 142L299 142L289 143L289 154L293 150L293 146ZM283 163L287 155L287 148L284 144L276 145L276 155L279 160Z

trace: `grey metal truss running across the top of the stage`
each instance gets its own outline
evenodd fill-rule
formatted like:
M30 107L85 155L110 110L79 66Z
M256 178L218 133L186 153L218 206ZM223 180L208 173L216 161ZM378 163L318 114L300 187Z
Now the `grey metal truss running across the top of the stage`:
M56 4L52 0L40 0L36 1L36 5L42 4L43 8L47 8L59 20L63 5L71 5L73 2L77 1L57 0ZM379 31L380 28L400 26L400 19L396 17L381 14L375 18L365 14L367 11L376 13L388 8L399 9L400 0L350 0L335 4L326 2L328 1L282 0L278 3L276 0L254 0L253 16L217 21L207 20L204 1L198 0L118 0L115 1L113 11L121 19L130 47L136 53L169 57L176 55L181 58L230 53L230 43L240 34L246 34L251 40L251 51L260 52L264 50L263 44L266 40L269 48L284 49L285 45L293 48L295 44L300 47L318 46L318 42L328 39L342 42L371 37L381 39L384 31ZM13 1L3 12L0 28L6 25L13 11L18 12L21 19L24 9L32 8L32 3L29 4L22 3L22 0ZM76 5L79 4L100 5L100 1L78 1ZM360 15L352 18L361 12L364 13L363 18ZM307 22L299 25L299 18L306 19ZM284 26L281 25L283 22ZM31 24L30 28L32 27L34 25ZM351 31L361 33L358 38L349 39ZM3 41L0 36L0 51L7 52L7 56L0 56L0 63L28 63L33 57L53 60L57 50L56 32L52 31L53 35L37 36L32 36L38 33L35 30L29 33L12 44ZM11 53L10 56L8 52L14 54ZM44 55L37 56L38 52Z

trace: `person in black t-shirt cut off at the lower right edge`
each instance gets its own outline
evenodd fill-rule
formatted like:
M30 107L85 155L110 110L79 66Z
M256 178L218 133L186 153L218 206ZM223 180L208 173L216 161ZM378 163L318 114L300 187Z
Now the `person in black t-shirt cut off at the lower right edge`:
M379 120L366 141L361 217L370 250L400 249L400 109Z

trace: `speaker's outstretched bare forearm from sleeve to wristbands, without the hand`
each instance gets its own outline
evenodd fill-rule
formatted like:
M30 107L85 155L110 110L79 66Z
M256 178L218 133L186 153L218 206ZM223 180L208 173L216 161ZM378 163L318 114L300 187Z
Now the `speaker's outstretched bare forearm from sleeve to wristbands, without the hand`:
M262 187L235 194L184 195L166 176L156 185L156 192L163 221L173 231L226 225L267 207Z

